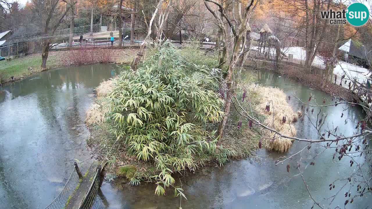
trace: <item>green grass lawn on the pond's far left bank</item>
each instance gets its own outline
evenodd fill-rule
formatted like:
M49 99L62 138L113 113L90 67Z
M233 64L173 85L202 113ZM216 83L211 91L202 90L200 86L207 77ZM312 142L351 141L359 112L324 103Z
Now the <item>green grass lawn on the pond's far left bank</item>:
M41 71L41 54L32 54L25 57L16 58L7 62L0 61L0 80L1 83L10 81L10 77L14 76L15 80L26 77L32 73ZM47 68L57 66L57 56L50 53L47 61ZM28 70L32 67L32 71Z

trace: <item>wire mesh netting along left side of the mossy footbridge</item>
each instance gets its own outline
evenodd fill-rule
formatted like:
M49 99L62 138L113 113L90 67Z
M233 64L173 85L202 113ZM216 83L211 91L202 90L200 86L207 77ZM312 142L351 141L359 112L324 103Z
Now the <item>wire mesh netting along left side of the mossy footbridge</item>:
M64 209L68 203L68 199L76 189L79 183L79 176L77 175L75 168L72 169L71 175L68 178L65 186L58 196L50 203L45 209Z

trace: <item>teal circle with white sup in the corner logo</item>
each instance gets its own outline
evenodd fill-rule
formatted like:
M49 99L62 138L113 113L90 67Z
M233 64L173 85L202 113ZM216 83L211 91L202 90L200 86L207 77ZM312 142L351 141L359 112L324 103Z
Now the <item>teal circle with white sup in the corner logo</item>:
M347 8L346 19L353 26L362 26L369 19L368 8L362 3L353 3Z

